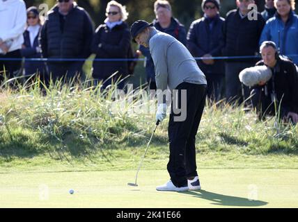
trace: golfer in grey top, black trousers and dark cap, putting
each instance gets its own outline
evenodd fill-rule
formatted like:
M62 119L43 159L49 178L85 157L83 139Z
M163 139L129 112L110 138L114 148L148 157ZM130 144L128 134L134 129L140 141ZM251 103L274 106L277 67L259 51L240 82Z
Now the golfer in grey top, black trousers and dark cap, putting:
M138 44L150 48L157 84L157 121L166 117L166 90L170 89L173 94L168 122L170 157L167 169L171 180L157 190L201 189L195 142L205 106L205 76L191 53L175 37L157 31L142 20L132 24L131 33Z

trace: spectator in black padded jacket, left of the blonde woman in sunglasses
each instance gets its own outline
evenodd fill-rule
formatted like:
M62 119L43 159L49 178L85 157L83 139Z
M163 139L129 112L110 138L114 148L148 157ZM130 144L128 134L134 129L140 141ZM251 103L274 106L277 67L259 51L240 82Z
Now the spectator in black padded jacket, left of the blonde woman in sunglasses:
M91 18L84 8L73 0L58 0L40 33L42 56L61 60L47 62L49 78L63 77L68 81L82 74L84 60L65 59L86 59L91 55L93 30Z

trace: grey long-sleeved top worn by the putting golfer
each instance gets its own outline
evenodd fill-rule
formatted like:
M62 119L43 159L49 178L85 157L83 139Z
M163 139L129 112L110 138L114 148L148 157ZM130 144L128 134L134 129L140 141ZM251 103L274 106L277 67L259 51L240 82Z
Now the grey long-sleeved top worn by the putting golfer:
M205 75L188 49L175 37L157 31L149 40L157 89L175 89L181 83L207 85Z

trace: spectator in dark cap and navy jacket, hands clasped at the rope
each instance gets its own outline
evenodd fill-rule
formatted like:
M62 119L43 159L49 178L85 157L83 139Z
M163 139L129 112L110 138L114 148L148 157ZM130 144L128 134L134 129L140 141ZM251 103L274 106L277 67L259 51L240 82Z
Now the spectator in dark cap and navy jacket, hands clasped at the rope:
M191 24L187 35L187 47L194 57L221 56L221 49L224 46L222 33L224 18L219 17L219 7L219 0L204 0L202 3L204 17ZM207 96L219 101L224 83L224 62L199 60L198 67L207 78Z

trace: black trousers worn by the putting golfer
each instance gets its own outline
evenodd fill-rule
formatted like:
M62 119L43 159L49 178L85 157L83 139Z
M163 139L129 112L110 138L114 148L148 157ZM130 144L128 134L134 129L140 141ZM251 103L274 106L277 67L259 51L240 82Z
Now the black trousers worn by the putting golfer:
M205 107L207 85L182 83L173 91L173 94L176 96L173 95L168 122L170 157L167 169L173 184L176 187L185 187L188 177L198 176L196 172L196 133ZM177 114L179 109L182 111ZM186 115L183 115L182 112L185 112ZM177 119L182 116L185 116L183 121Z

